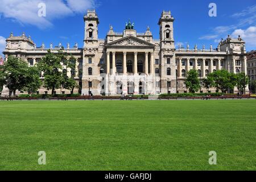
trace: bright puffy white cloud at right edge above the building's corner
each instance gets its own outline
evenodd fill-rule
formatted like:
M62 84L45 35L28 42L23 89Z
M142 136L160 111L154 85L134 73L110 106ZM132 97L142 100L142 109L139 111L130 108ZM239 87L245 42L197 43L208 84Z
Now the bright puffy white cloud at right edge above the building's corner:
M238 35L241 36L246 42L246 46L256 46L256 26L251 26L245 30L236 29L232 33L233 38L237 38Z

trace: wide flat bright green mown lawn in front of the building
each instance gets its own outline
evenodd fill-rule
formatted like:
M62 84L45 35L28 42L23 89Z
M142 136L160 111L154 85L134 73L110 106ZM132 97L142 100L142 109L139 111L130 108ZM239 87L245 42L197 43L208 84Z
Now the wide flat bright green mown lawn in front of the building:
M256 100L0 101L0 111L0 170L256 169Z

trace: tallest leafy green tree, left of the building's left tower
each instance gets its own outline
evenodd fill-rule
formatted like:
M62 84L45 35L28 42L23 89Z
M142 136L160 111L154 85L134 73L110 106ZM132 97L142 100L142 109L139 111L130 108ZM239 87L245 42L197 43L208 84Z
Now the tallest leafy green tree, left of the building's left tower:
M54 94L55 89L59 89L62 82L62 70L63 66L61 63L65 61L65 53L63 51L59 51L56 55L48 50L46 56L42 58L39 62L39 71L44 72L44 87L48 90L52 90L52 94Z

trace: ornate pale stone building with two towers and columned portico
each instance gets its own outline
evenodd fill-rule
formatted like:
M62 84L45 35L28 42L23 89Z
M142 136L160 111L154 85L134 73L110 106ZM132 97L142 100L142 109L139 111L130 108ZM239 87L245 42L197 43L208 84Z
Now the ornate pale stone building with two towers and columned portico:
M98 38L100 20L95 10L88 10L84 16L84 46L79 48L67 44L64 51L77 59L76 76L81 94L94 95L117 94L160 94L184 93L185 78L190 69L196 69L200 79L219 69L232 73L247 71L245 42L240 38L228 36L221 40L217 48L198 48L197 45L175 49L174 16L170 11L163 11L158 25L160 39L153 39L150 28L139 33L134 24L126 23L123 32L115 32L113 27L105 39ZM62 45L46 48L36 44L25 34L10 35L3 51L5 61L15 55L35 65L46 55L47 49L57 52ZM63 66L65 67L65 66ZM68 70L68 74L72 73ZM247 73L246 73L247 74ZM42 73L43 79L43 73ZM214 88L204 89L201 83L200 92L216 92ZM236 90L235 90L236 91ZM46 93L41 88L38 93ZM56 90L57 93L69 93L69 90Z

